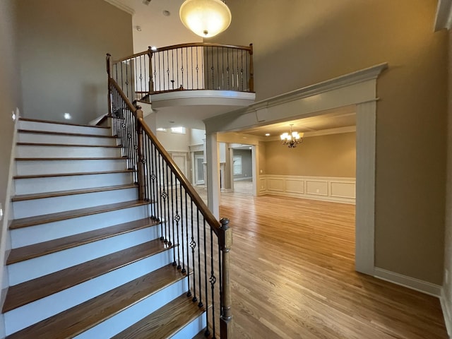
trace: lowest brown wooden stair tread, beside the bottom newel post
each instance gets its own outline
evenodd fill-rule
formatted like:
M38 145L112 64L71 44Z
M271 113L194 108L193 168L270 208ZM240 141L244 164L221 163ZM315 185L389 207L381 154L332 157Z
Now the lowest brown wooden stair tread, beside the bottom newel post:
M181 295L149 316L141 319L112 339L165 339L170 338L205 309L199 308L191 298Z

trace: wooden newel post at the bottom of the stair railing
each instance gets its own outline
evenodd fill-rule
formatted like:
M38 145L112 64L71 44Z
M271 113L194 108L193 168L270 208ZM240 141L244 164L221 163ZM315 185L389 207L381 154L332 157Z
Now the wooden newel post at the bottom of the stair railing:
M222 218L220 220L220 256L222 261L222 280L221 280L221 309L220 309L220 338L232 338L232 297L230 284L230 249L232 245L232 230L229 227L229 220Z

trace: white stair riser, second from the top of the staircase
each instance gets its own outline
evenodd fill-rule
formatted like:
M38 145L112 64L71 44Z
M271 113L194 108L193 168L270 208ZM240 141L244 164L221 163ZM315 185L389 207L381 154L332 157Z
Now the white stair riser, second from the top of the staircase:
M61 134L18 133L18 143L56 143L64 145L117 145L116 138L65 136Z

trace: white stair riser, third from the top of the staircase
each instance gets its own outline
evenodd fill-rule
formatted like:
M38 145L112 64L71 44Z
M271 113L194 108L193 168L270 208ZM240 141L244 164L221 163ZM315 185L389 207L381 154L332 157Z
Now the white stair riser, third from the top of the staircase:
M120 157L121 148L17 145L16 157Z

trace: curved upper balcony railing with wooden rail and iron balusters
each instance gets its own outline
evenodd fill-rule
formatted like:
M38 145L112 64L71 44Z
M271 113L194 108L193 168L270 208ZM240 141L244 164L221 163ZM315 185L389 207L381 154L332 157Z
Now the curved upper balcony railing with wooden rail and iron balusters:
M131 101L175 90L254 93L252 44L177 44L107 60L112 78Z

